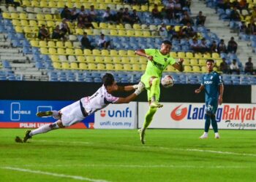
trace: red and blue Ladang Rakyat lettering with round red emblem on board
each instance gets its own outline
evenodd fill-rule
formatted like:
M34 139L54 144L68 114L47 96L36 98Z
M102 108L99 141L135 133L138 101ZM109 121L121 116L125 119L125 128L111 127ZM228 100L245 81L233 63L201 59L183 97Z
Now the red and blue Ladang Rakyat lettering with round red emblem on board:
M181 108L182 105L173 109L170 112L171 119L175 121L180 121L181 119L188 119L188 120L203 120L206 114L206 106L203 105L202 107L195 107L192 104L188 106L184 106ZM231 106L225 104L222 108L217 108L217 112L215 114L217 122L221 120L236 120L238 122L245 122L245 121L254 121L256 119L256 107L243 107L236 105Z

